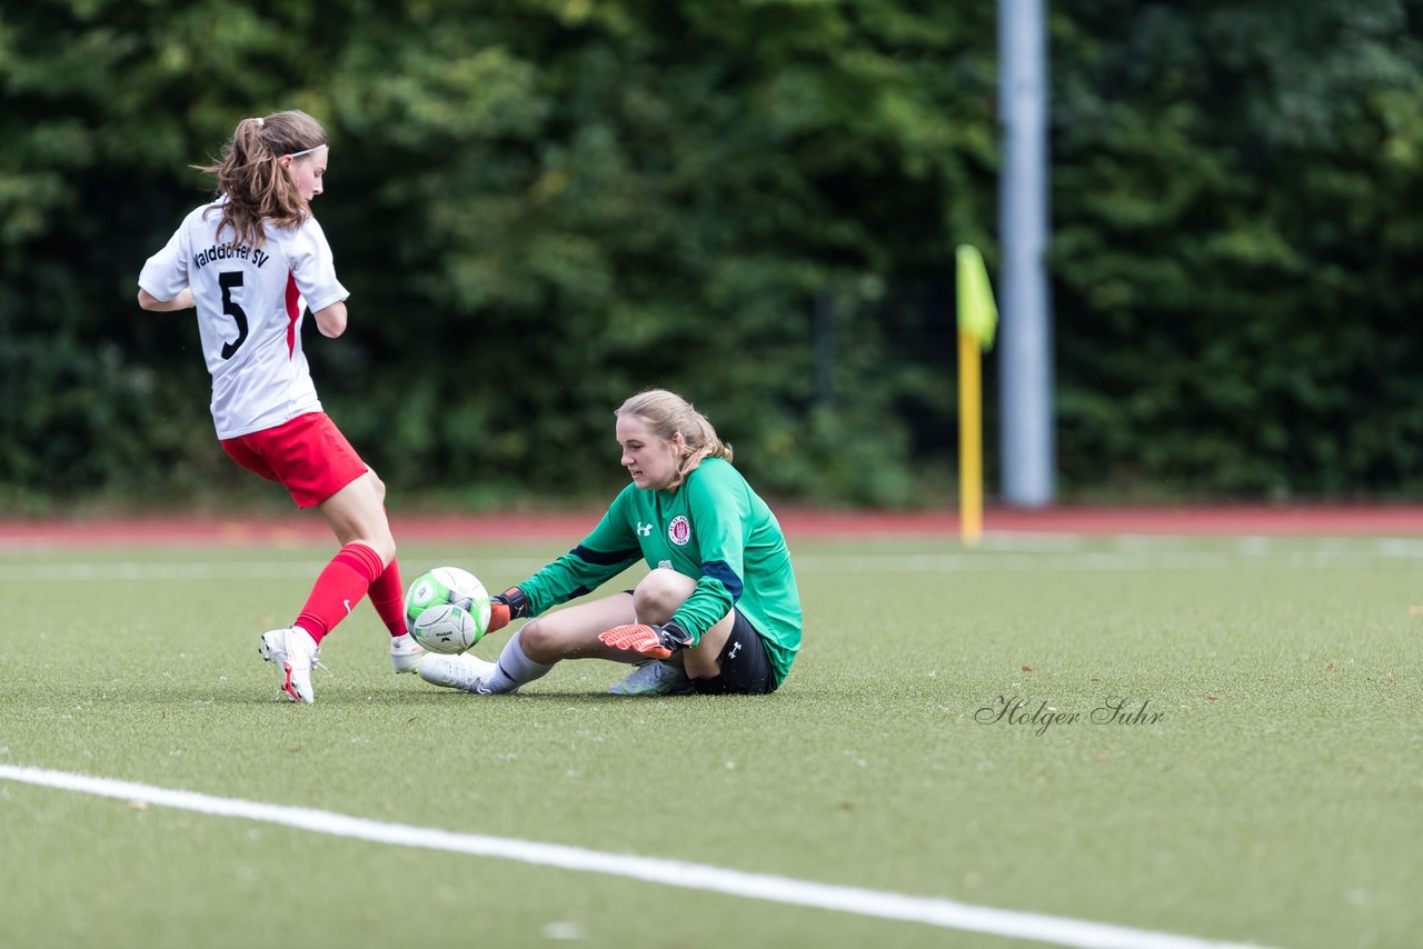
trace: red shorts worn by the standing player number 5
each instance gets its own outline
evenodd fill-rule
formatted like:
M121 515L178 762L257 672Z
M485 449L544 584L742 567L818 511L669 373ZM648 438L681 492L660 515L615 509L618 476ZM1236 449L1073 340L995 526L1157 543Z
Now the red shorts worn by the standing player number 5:
M283 485L299 508L314 508L370 470L326 413L223 438L222 450L248 471Z

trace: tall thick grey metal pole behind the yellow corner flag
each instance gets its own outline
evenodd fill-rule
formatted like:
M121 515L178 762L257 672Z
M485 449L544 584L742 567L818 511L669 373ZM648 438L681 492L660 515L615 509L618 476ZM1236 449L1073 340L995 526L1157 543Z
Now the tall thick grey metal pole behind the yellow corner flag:
M1003 502L1053 501L1053 324L1047 290L1047 40L1046 0L999 0L1000 327L999 418Z

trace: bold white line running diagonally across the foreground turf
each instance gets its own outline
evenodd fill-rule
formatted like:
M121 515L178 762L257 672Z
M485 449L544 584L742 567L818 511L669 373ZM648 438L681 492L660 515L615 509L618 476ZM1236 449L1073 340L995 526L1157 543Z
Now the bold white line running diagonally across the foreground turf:
M727 894L774 903L813 906L861 916L919 922L945 929L982 932L1012 939L1033 939L1057 946L1101 949L1234 949L1244 943L1210 942L1192 936L1177 936L1150 929L1130 929L1110 923L1044 916L1040 913L973 906L952 899L909 896L858 886L815 884L770 874L747 874L737 869L687 864L656 857L603 854L599 851L539 844L482 834L457 834L430 827L386 824L360 817L332 814L305 807L260 804L238 798L209 797L194 791L97 778L67 771L47 771L0 764L0 780L40 787L78 791L121 801L144 801L215 817L236 817L263 824L280 824L314 834L329 834L349 839L418 847L424 849L512 859L538 866L556 866L589 874L626 876L665 886L680 886L702 892Z

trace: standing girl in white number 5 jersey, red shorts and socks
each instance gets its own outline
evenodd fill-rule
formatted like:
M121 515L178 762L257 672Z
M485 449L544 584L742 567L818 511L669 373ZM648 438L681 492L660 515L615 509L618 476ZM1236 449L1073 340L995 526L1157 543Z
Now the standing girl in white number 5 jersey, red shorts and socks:
M323 336L346 332L349 293L310 208L327 151L326 129L306 112L242 120L219 162L201 168L216 175L218 199L195 208L138 277L145 310L198 310L223 451L320 511L342 542L296 622L259 646L282 691L303 703L316 700L322 637L367 593L396 672L414 672L421 653L404 627L386 485L322 411L302 351L307 307Z

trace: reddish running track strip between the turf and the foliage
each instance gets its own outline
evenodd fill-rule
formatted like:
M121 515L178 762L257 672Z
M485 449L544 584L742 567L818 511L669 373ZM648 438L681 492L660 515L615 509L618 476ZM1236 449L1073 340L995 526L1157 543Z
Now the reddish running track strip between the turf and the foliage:
M573 544L596 522L586 514L393 515L397 541L514 541L556 538ZM790 539L928 534L958 536L955 511L871 512L783 508ZM1423 535L1423 508L1412 507L1200 507L1049 508L989 511L989 532L1194 534L1194 535ZM330 538L313 514L285 518L95 518L0 521L0 546L280 545Z

